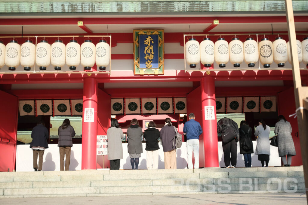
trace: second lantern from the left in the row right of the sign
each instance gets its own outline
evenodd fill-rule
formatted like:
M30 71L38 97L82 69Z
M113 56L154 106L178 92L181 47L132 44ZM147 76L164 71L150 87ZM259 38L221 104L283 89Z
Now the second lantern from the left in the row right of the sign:
M211 67L214 63L214 42L210 38L204 38L200 43L200 60L205 68Z

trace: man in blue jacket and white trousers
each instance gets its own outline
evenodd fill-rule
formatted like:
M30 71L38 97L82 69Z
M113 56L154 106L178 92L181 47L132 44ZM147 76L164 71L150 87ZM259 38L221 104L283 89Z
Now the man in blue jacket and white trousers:
M193 168L193 154L195 156L194 168L199 169L199 135L202 134L202 128L199 122L195 121L195 114L188 115L189 121L185 122L183 132L186 133L186 146L188 157L188 169Z

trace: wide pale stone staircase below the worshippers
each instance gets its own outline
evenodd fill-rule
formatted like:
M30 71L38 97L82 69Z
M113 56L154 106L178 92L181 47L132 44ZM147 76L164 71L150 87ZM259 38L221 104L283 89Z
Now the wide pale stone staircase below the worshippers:
M0 198L305 192L303 168L0 172Z

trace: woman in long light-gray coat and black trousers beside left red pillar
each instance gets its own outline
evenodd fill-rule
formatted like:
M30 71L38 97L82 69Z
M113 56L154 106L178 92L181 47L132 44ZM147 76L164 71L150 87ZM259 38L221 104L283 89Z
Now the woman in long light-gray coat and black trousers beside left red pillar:
M111 120L111 127L107 129L107 150L110 170L120 169L120 160L123 159L122 148L123 132L117 119Z

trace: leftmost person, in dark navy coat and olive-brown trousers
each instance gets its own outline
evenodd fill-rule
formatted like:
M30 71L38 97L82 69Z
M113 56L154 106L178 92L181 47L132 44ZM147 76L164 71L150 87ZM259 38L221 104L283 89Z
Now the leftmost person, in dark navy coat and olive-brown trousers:
M45 127L43 120L40 120L38 124L32 129L31 132L32 142L30 143L30 148L33 152L33 168L34 171L42 171L43 166L43 156L45 149L48 148L47 140L49 138L48 129ZM39 156L39 166L37 163Z

